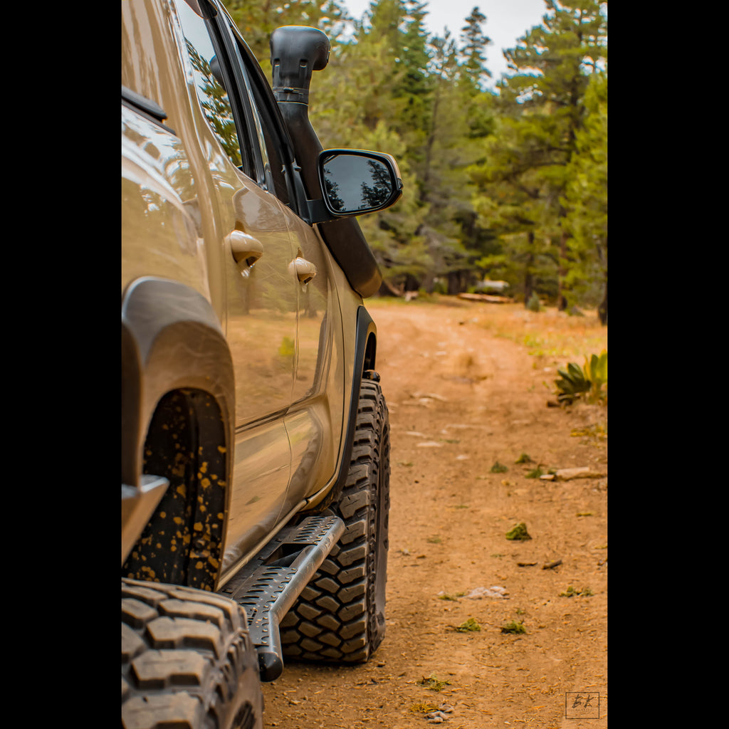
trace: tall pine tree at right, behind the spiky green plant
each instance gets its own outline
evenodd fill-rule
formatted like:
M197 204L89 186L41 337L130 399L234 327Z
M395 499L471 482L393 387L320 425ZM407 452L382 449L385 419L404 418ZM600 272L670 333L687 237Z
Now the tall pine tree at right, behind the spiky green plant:
M497 84L502 122L495 139L486 144L487 161L474 171L488 198L476 204L482 216L501 222L502 235L521 234L510 238L510 245L525 237L529 241L523 273L526 299L530 287L539 284L555 296L559 308L566 308L570 232L564 192L585 117L589 77L607 58L606 3L545 0L545 5L542 24L505 52L513 73ZM494 198L486 184L494 185L500 197ZM498 214L494 208L500 208ZM535 269L537 262L545 270ZM538 271L542 281L537 281Z

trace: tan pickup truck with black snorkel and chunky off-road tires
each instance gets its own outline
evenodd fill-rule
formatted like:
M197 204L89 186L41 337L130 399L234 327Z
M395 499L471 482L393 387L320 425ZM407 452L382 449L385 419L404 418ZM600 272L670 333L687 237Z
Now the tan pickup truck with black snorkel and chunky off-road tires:
M308 120L316 28L271 82L219 0L122 0L122 726L253 729L284 658L385 632L389 419L356 216L382 152Z

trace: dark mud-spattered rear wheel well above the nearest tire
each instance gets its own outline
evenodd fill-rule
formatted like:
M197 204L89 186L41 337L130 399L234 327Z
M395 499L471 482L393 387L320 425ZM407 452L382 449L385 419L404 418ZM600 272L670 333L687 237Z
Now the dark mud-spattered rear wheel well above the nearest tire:
M215 589L229 463L225 421L211 394L179 389L159 400L142 472L170 485L122 567L123 577Z

